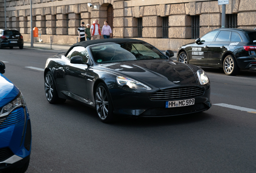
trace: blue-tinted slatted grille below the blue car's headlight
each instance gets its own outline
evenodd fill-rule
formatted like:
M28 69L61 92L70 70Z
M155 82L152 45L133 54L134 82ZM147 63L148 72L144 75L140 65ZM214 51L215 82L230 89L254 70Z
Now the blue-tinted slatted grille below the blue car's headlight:
M22 121L23 120L23 121ZM24 124L24 111L23 108L16 109L7 116L0 117L0 128L9 127L15 123Z

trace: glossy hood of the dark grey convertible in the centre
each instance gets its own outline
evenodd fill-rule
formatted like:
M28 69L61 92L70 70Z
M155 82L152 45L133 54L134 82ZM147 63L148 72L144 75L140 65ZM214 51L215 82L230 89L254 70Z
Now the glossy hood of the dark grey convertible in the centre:
M102 66L134 76L160 89L197 84L196 76L188 65L172 60L136 60Z

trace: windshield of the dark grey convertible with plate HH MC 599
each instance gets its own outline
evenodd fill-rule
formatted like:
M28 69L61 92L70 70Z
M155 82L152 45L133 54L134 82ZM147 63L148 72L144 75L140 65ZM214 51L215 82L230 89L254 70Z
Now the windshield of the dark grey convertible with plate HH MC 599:
M168 59L151 44L140 42L108 43L91 46L95 62L99 64L129 61Z

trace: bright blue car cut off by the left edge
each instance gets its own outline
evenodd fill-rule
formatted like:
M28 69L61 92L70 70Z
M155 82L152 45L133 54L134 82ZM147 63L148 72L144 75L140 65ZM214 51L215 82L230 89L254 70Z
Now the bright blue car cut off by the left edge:
M31 124L21 91L0 61L0 173L24 173L31 153Z

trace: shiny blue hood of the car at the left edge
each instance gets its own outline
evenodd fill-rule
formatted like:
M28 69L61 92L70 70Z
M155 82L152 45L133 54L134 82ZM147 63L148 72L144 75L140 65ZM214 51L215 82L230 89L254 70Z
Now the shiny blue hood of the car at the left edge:
M0 107L8 104L19 94L19 89L0 73Z

